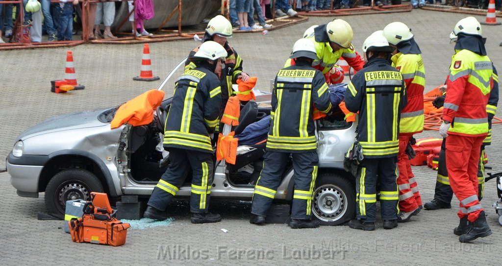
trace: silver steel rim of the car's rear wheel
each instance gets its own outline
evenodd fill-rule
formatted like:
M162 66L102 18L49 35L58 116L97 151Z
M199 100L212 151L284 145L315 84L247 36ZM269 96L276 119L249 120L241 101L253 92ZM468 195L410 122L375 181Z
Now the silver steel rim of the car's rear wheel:
M321 221L337 221L347 211L347 195L334 185L323 185L314 192L312 210Z

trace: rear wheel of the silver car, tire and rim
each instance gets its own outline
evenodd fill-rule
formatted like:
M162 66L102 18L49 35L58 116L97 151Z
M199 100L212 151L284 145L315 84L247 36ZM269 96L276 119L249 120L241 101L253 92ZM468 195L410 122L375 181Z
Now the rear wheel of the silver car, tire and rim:
M321 225L339 225L355 216L354 185L337 173L317 176L312 201L312 214Z

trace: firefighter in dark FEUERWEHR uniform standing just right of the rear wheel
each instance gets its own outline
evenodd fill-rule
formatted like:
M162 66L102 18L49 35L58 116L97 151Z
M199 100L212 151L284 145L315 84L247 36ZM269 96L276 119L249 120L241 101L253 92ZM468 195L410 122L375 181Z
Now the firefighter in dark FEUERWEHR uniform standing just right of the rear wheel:
M391 66L394 48L381 32L375 32L362 46L364 68L358 71L345 91L345 106L359 112L356 139L363 159L356 176L356 219L349 227L372 231L376 219L376 184L384 228L398 226L399 192L397 179L399 123L407 98L403 75Z

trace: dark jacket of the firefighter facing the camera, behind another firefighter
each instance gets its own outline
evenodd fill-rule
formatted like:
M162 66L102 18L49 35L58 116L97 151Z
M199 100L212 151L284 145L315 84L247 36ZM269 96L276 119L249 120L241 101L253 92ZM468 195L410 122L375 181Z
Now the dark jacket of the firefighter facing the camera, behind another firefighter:
M209 39L208 39L209 40ZM188 69L195 68L195 64L189 59L199 50L199 47L194 48L188 55L188 59L185 62L185 71ZM224 65L222 66L219 62L215 69L215 74L218 75L221 82L221 113L225 110L226 102L228 98L232 96L232 84L236 84L237 77L242 73L242 58L237 54L232 46L228 42L223 45L227 52Z

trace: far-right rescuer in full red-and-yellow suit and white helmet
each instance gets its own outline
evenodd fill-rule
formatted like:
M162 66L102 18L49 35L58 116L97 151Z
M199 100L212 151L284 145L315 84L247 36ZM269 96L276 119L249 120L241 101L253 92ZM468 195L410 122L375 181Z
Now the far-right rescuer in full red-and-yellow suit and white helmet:
M460 222L454 229L460 242L491 235L479 203L477 164L483 139L488 134L488 103L493 67L486 56L481 25L474 17L460 20L450 38L457 39L446 80L443 123L446 168L453 193L460 201Z

